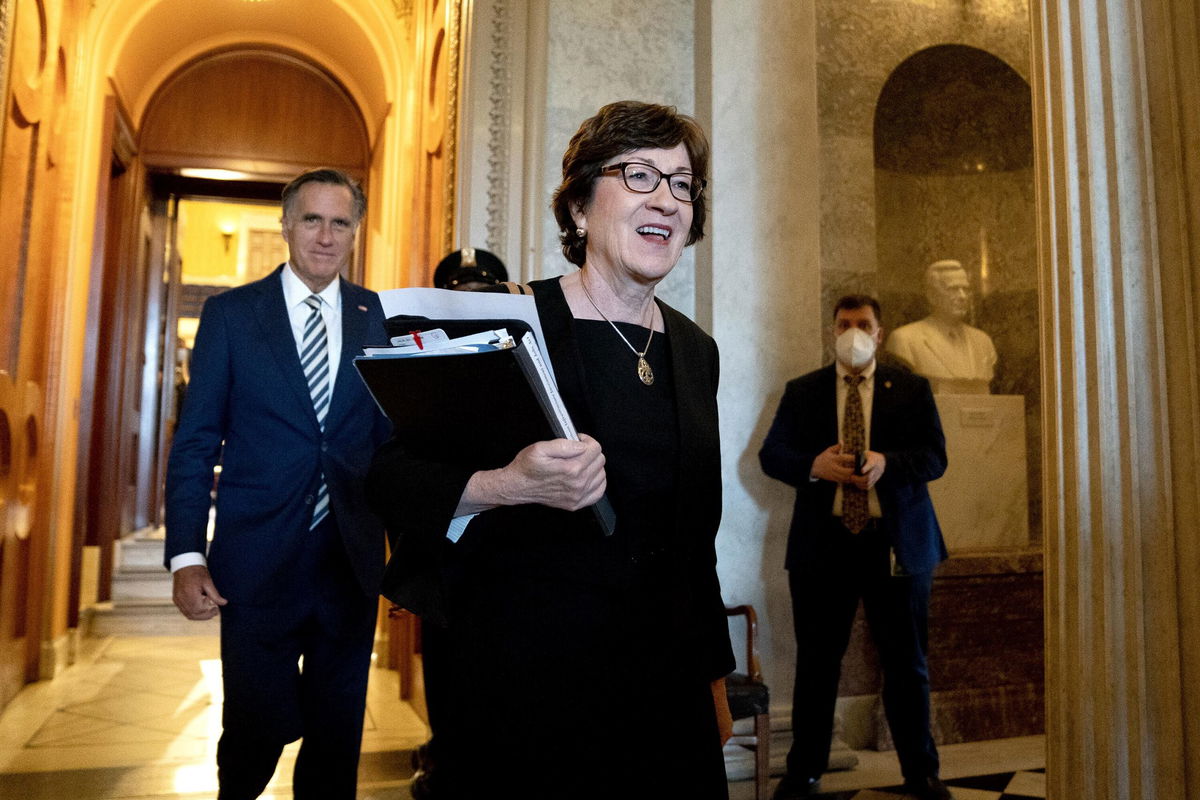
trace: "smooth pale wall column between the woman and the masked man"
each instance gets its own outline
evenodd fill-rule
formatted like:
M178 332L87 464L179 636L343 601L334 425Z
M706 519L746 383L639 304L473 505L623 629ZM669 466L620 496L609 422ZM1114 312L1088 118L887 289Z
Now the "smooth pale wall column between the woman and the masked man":
M784 551L794 492L758 447L784 385L821 366L821 142L812 4L714 0L712 333L721 348L725 510L716 539L727 603L758 612L773 711L787 718L796 672ZM780 747L778 752L786 748Z

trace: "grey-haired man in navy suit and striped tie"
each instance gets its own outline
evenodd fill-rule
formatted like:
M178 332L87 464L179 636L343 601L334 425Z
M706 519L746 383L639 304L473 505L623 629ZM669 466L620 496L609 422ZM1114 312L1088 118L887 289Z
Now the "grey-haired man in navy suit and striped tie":
M365 209L344 173L301 174L283 190L288 263L200 314L164 559L185 616L221 614L221 800L259 796L299 738L294 795L355 795L385 548L364 477L388 434L353 366L385 339L383 309L340 276Z

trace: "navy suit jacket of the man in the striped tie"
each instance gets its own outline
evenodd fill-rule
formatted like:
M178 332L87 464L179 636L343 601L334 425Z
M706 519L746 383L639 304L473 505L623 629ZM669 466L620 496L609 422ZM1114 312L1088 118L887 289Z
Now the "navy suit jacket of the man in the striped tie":
M167 463L164 560L205 552L212 468L221 463L208 553L230 602L278 602L308 535L322 473L346 553L362 591L378 594L385 539L365 499L371 453L390 423L367 392L354 356L385 341L374 291L342 281L342 354L322 433L271 275L210 297L200 313L191 383Z

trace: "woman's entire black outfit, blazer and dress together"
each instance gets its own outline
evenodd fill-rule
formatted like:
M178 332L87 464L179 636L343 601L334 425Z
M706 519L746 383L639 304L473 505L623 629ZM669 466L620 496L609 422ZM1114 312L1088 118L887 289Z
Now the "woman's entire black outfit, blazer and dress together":
M558 281L533 288L558 389L604 449L617 527L605 536L590 509L502 506L451 545L469 469L413 458L396 441L377 455L372 501L394 535L385 594L446 625L454 699L439 769L462 781L454 798L494 790L494 775L524 759L530 800L724 799L709 688L733 666L713 546L716 347L659 303L670 336L654 336L646 386L607 323L575 319ZM622 331L638 348L649 336ZM631 750L631 720L660 732L660 745Z

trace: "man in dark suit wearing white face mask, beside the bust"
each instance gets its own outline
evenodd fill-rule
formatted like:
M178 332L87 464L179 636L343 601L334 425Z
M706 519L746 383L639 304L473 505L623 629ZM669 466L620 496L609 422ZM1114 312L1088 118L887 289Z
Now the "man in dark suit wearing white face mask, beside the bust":
M946 558L926 483L946 471L946 439L929 381L876 362L880 321L874 297L838 301L836 362L787 384L758 452L767 475L796 487L785 563L797 642L793 739L775 800L818 792L859 600L905 789L950 798L938 780L925 663L934 567Z

